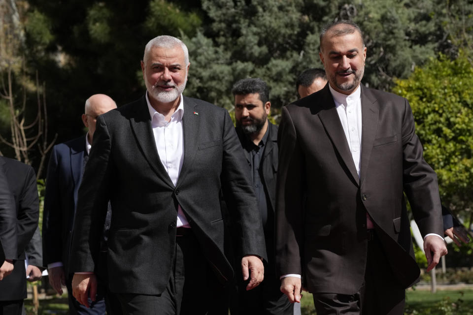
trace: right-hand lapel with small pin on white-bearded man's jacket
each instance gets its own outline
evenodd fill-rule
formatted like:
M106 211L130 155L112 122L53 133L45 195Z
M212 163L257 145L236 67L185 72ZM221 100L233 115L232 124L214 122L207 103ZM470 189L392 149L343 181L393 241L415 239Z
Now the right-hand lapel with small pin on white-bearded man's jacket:
M182 126L184 133L184 161L177 179L176 187L184 180L189 170L192 168L194 158L198 150L199 139L199 107L197 103L184 96L184 116L182 117Z

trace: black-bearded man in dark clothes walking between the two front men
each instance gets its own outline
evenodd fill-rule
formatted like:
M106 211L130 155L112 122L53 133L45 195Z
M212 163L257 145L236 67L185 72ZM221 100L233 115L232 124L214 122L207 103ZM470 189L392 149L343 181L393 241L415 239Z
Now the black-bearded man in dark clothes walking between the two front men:
M243 147L248 170L255 189L265 233L268 263L265 281L257 288L245 290L237 272L237 305L232 314L293 315L294 304L279 289L274 265L274 208L277 175L277 126L270 123L269 87L261 79L242 79L232 89L235 97L236 134ZM235 315L234 314L234 315Z

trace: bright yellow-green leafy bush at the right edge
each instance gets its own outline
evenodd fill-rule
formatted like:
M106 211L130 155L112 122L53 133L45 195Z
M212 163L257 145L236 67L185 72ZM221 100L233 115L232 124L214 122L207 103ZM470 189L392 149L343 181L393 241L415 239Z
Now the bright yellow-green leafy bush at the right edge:
M452 209L472 207L473 68L460 56L440 55L396 81L394 93L410 102L424 158L435 169L442 201Z

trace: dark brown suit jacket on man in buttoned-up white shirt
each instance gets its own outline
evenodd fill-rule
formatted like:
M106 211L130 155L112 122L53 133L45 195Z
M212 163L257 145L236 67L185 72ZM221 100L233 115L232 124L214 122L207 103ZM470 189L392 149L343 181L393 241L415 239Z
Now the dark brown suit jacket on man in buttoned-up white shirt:
M404 193L422 235L443 234L437 176L407 100L361 89L360 178L328 85L282 109L276 263L280 275L303 274L309 292L361 287L367 212L400 284L417 280Z

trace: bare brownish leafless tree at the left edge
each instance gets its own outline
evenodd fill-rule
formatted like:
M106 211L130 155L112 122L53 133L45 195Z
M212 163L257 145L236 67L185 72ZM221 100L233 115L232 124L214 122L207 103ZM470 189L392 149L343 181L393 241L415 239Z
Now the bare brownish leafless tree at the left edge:
M32 81L25 65L22 17L23 10L15 1L0 4L0 108L4 111L2 125L9 127L9 136L0 135L0 143L20 161L29 165L36 161L39 177L56 138L48 143L44 84L40 86L37 72Z

